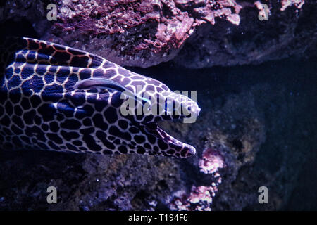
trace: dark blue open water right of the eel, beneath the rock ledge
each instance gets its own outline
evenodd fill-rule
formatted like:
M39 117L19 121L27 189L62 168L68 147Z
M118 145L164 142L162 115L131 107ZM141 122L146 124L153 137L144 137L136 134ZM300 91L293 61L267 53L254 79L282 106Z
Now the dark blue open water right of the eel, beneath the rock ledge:
M254 176L271 176L271 188L282 201L280 210L317 210L316 59L200 70L171 63L129 69L159 79L172 90L197 90L201 116L231 94L252 90L266 140L249 170Z

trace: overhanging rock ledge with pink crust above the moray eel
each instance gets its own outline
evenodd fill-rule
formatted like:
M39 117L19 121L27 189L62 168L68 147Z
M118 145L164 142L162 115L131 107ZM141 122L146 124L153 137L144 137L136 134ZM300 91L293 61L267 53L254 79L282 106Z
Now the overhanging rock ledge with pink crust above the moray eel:
M6 1L0 20L22 18L37 37L124 66L173 60L187 68L316 56L316 1ZM266 4L266 6L262 5ZM50 14L51 15L51 14ZM266 20L268 19L268 20Z

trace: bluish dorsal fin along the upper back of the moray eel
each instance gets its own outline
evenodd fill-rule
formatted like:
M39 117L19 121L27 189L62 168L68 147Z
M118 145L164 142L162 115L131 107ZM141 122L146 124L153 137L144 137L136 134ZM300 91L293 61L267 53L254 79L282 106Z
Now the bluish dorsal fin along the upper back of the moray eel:
M5 37L0 41L1 80L5 74L7 79L13 75L11 69L8 72L4 70L14 64L14 68L21 70L23 79L36 74L43 76L47 84L54 80L59 83L67 82L64 86L66 91L73 91L78 79L92 77L93 71L98 68L113 66L113 63L100 56L48 41L27 37ZM37 83L33 82L32 85L37 86Z

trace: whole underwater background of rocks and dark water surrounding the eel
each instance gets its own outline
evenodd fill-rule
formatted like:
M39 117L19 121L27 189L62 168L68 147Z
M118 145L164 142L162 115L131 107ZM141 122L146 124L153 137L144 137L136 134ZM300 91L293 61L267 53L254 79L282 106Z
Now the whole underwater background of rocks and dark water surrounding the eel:
M105 2L104 11L101 1L1 2L1 30L197 91L195 123L161 123L196 155L1 150L0 210L317 210L316 1L265 1L267 21L258 19L258 1ZM57 21L46 19L50 3ZM139 23L116 22L122 7L132 19L142 11ZM210 14L219 9L219 18ZM49 186L57 204L46 202Z

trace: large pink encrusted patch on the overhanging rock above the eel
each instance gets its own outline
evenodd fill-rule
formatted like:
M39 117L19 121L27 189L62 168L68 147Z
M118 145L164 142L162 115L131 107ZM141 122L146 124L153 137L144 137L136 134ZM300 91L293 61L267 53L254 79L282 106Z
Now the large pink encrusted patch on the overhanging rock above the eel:
M165 53L169 49L180 49L197 26L202 23L214 25L215 18L239 25L241 8L233 0L63 1L58 6L55 29L81 30L105 37L117 34L120 37L117 45L129 55L142 50ZM127 43L130 49L125 49Z

